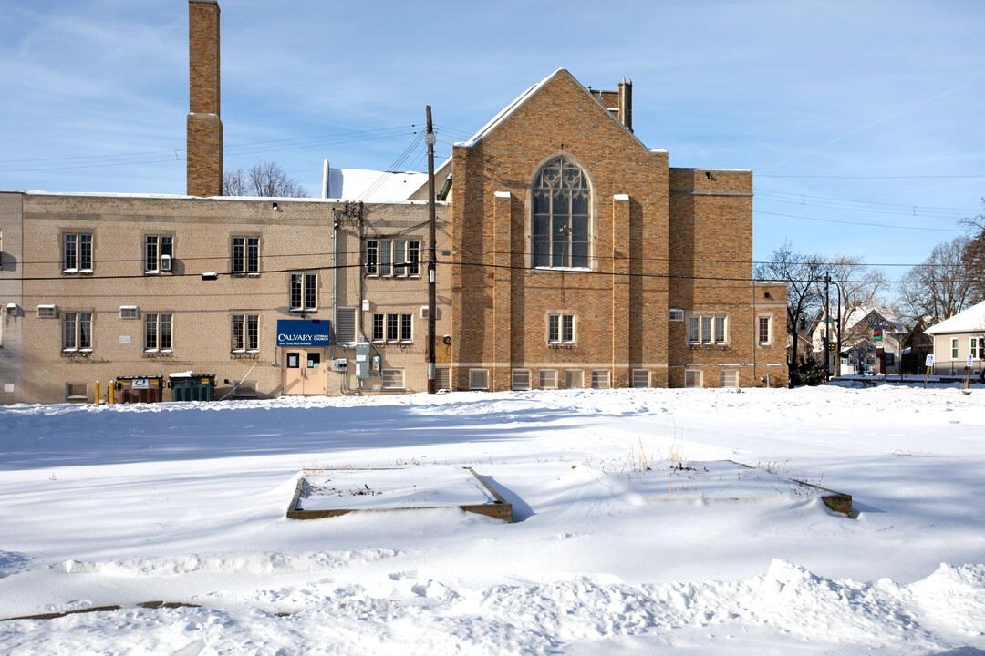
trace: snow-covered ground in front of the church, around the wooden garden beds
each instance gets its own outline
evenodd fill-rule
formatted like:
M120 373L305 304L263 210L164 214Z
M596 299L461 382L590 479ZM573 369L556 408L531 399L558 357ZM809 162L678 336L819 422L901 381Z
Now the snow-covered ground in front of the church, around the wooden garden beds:
M285 516L302 469L437 465L515 523ZM985 389L2 407L0 618L5 654L983 655Z

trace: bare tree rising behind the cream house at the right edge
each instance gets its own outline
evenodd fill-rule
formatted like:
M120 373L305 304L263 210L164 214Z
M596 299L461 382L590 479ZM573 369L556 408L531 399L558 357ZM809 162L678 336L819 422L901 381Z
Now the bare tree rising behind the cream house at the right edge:
M959 236L938 244L923 264L903 277L899 298L908 317L926 317L933 326L972 304L974 281L964 268L970 241Z

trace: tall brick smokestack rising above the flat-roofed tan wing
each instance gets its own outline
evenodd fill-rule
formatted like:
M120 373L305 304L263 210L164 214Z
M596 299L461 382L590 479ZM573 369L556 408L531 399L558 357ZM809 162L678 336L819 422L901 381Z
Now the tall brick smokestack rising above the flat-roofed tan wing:
M223 195L219 2L188 0L188 196Z

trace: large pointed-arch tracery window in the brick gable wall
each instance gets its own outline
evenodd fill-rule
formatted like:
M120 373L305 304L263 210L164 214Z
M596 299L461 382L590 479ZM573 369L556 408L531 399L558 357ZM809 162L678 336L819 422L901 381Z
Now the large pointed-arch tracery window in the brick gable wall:
M585 172L570 159L541 168L532 189L534 267L588 268L591 196Z

